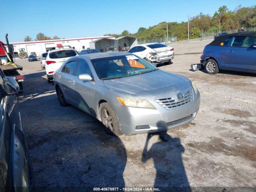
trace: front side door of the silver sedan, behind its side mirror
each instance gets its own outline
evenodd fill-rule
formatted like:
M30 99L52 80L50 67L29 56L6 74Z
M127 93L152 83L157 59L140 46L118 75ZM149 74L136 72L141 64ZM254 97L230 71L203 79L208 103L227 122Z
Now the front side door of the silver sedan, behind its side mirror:
M95 81L80 81L78 76L80 74L89 74L92 72L86 60L79 58L76 66L76 73L72 79L72 96L78 108L96 116L95 108ZM93 77L92 77L93 78Z

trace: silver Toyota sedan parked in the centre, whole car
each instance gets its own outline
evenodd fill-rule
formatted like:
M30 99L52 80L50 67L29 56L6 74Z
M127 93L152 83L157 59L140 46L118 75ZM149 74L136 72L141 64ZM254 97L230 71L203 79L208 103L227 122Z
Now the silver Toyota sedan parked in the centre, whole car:
M74 56L56 70L54 85L61 106L76 106L117 136L181 126L200 106L200 93L188 78L128 52Z

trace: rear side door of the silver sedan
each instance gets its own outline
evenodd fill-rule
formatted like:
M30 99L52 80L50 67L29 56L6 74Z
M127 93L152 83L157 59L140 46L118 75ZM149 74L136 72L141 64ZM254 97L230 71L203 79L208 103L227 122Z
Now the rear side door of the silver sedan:
M75 103L72 97L72 78L74 76L77 58L69 60L61 69L58 75L58 82L62 88L62 92L67 102Z

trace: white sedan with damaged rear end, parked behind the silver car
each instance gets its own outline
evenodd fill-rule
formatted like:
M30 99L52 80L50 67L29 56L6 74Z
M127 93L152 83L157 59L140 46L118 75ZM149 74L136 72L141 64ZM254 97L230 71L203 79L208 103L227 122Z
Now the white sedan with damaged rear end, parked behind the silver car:
M128 52L143 58L148 62L171 64L174 58L174 48L162 43L146 43L134 46Z

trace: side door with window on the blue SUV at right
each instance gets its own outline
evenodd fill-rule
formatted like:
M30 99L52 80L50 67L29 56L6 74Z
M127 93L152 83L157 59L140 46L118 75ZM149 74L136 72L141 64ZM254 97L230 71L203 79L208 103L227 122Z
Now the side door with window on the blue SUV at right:
M227 51L228 68L256 70L256 49L250 47L252 44L256 44L254 36L234 36Z

